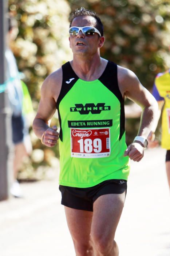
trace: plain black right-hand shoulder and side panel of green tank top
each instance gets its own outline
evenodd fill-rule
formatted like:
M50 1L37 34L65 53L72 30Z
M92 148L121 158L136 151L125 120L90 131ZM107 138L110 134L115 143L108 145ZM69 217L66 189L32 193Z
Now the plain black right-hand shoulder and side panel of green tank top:
M117 65L108 61L107 66L100 76L99 81L107 87L120 101L120 136L119 140L125 131L125 116L124 116L124 99L118 86L118 68Z

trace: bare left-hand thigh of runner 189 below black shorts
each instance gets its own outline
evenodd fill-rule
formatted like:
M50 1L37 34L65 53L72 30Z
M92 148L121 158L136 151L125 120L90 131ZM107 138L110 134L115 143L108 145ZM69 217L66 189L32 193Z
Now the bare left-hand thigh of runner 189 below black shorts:
M64 206L67 225L73 241L86 244L90 240L92 212Z

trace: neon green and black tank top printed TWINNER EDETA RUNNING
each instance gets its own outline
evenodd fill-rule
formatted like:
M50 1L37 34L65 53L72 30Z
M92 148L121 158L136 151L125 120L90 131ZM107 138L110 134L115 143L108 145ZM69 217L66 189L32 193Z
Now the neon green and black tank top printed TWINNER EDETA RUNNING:
M124 99L117 65L108 61L99 79L84 81L70 62L56 103L60 122L59 184L87 188L110 179L127 180L129 157L124 131Z

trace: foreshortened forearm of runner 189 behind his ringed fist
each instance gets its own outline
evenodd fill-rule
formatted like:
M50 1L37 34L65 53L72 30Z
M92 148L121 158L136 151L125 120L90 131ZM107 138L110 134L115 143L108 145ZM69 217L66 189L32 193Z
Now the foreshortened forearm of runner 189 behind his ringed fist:
M34 131L35 135L39 139L41 139L41 136L43 135L43 132L45 132L49 128L49 125L43 119L36 117L33 120L32 128L33 128L33 131Z

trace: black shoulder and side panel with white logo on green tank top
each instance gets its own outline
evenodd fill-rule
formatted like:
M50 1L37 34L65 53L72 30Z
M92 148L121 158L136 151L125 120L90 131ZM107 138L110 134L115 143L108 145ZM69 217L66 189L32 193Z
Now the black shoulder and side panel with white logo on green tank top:
M70 62L67 62L64 65L62 65L62 71L63 71L62 88L61 88L58 100L56 102L56 108L58 110L59 123L60 123L59 137L61 141L63 141L63 131L62 131L62 120L61 120L60 111L59 111L59 104L64 98L64 96L68 93L68 91L71 90L71 88L79 79L78 76L75 74L74 70L72 69Z

